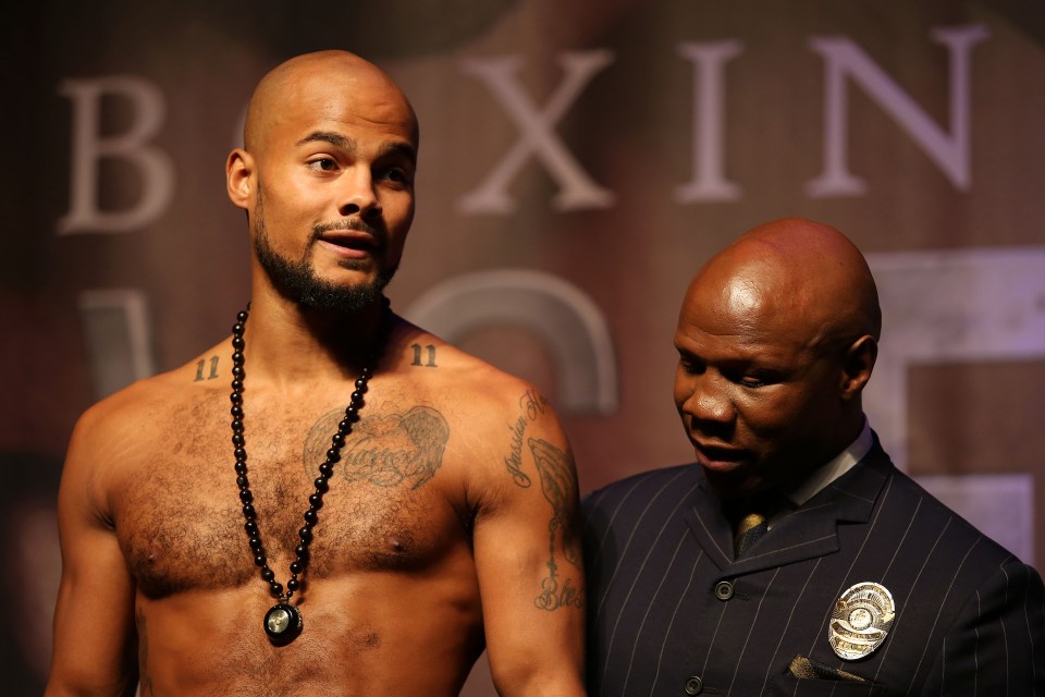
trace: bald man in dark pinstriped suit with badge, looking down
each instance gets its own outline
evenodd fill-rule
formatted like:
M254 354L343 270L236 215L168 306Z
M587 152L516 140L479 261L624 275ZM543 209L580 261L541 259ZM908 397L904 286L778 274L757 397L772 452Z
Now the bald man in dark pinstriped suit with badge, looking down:
M1041 576L868 424L880 329L863 256L812 221L693 278L674 391L696 463L585 501L590 695L1045 695Z

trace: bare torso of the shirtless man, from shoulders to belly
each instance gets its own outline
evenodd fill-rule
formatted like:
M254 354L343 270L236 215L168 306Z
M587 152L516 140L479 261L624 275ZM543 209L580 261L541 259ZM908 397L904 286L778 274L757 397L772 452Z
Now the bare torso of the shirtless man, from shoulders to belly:
M416 328L402 327L394 341L319 511L293 598L304 629L282 647L262 628L275 599L247 545L233 470L228 344L133 387L111 407L111 464L91 486L133 583L142 695L459 692L483 647L477 518L519 486L519 433L546 403ZM415 345L431 353L419 362ZM290 392L245 381L249 486L269 565L284 585L354 379ZM553 562L562 511L551 499L542 505L552 603L579 607L554 584L556 564L576 561ZM529 588L518 602L532 609L542 588Z

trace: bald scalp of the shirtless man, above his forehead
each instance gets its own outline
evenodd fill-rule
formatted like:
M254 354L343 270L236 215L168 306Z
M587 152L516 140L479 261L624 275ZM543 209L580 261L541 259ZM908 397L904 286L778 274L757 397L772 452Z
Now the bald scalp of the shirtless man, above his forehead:
M417 117L395 82L373 63L348 51L296 56L269 72L247 107L243 142L250 152L263 151L270 134L303 111L332 111L332 99L367 100L405 124L418 140Z

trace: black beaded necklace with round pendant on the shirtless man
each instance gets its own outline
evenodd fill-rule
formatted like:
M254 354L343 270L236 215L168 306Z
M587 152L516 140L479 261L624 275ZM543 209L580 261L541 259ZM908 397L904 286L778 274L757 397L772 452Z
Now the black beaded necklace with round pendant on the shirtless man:
M286 592L283 591L283 584L275 580L275 573L269 567L265 547L261 545L261 535L258 530L254 494L250 493L250 485L247 481L247 449L246 440L243 437L243 379L246 376L243 369L243 347L246 345L243 340L243 331L249 314L250 304L248 303L247 308L236 315L236 323L232 328L233 380L232 394L229 396L232 401L232 444L235 445L236 486L239 487L239 501L243 502L243 517L246 519L243 527L249 537L250 549L254 552L254 563L261 570L261 578L269 584L269 592L278 600L276 604L265 613L265 633L273 645L284 646L293 641L302 633L304 626L302 612L297 609L297 606L291 604L291 596L300 587L298 576L304 574L308 566L308 546L312 541L312 528L319 522L318 511L323 505L323 494L330 488L329 481L334 470L334 463L341 460L341 448L345 444L345 438L352 432L352 425L359 420L359 409L362 407L362 395L367 391L367 382L373 376L378 359L381 357L381 351L384 347L384 340L391 323L389 321L389 301L388 298L384 299L384 317L373 351L367 366L356 380L356 389L349 398L348 406L345 407L345 417L337 424L337 431L331 438L331 448L327 451L327 460L319 466L319 476L315 481L316 492L308 497L309 505L304 515L305 525L297 531L300 542L294 549L296 558L291 563L291 578L286 582Z

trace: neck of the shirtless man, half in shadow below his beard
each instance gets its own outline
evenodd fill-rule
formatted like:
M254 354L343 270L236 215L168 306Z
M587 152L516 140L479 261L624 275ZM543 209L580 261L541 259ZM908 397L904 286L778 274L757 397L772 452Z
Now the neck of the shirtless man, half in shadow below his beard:
M355 379L373 351L384 303L356 313L330 313L265 296L250 303L244 339L251 381L307 384L340 376Z

